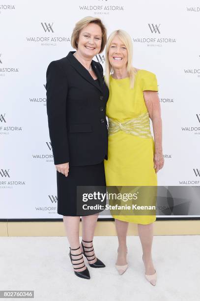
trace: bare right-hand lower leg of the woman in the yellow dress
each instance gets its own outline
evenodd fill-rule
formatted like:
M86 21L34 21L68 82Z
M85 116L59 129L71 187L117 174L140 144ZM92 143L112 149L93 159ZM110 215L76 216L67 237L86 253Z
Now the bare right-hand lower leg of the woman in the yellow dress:
M143 262L145 267L145 274L154 274L155 269L153 266L151 248L153 241L153 223L142 225L138 224L138 234L143 248Z

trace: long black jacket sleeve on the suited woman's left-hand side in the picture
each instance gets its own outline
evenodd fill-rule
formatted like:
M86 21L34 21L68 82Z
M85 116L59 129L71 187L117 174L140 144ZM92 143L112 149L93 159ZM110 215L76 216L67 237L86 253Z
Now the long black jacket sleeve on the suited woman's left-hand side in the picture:
M52 61L46 73L47 116L54 164L69 162L69 146L66 125L67 79L58 65Z

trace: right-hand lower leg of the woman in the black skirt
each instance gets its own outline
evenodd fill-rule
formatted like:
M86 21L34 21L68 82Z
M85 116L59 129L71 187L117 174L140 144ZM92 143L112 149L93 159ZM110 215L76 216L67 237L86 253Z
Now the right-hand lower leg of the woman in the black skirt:
M84 241L93 241L93 237L94 237L94 230L96 227L96 222L98 219L99 213L97 214L93 214L93 215L87 215L87 216L82 216L82 239ZM91 247L92 246L92 242L83 242L84 246L86 247ZM82 245L81 245L81 249ZM91 249L93 249L91 247ZM90 251L89 249L85 249L85 251ZM91 252L87 252L86 253L88 256L91 256L94 254L94 251ZM95 256L95 254L94 254ZM95 257L91 257L94 258L94 260L89 261L90 264L93 264L96 262L96 256ZM88 258L89 259L89 258Z

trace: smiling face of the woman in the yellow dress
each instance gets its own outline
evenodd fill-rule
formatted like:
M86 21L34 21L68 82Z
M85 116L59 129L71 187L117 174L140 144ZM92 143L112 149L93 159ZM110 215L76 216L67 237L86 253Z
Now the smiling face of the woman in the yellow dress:
M121 69L126 67L128 61L128 51L123 42L115 35L109 48L109 61L113 68Z

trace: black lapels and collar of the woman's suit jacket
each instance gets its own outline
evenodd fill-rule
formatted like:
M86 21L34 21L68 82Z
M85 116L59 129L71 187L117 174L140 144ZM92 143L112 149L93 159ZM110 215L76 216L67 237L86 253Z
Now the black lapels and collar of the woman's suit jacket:
M102 74L99 72L98 67L96 66L97 62L92 60L91 66L92 66L92 69L94 70L94 72L96 73L96 75L98 77L99 85L98 85L98 83L96 83L93 80L93 78L91 77L91 75L89 74L87 69L82 65L82 63L80 63L80 61L77 60L73 56L74 53L75 53L75 51L70 51L69 54L66 57L67 60L69 60L71 65L79 72L79 74L81 74L81 76L83 76L90 84L92 84L97 89L99 89L101 92L103 92L102 91L103 90L103 79L102 79Z

